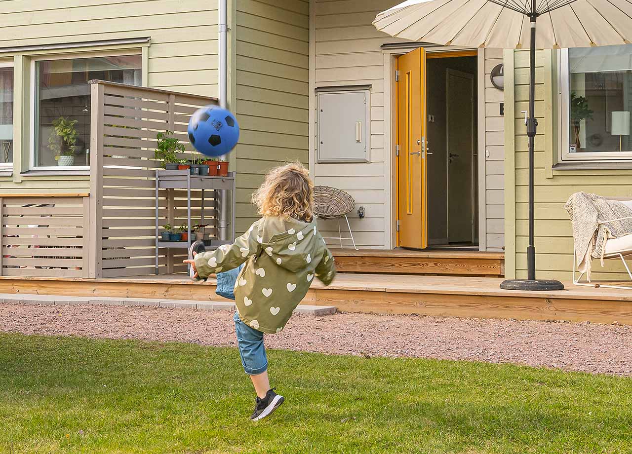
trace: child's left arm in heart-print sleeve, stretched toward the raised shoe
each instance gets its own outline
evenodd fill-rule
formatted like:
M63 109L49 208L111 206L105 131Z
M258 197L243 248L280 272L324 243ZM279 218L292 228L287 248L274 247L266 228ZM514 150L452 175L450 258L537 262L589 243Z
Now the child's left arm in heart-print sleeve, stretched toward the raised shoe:
M257 253L259 221L255 221L250 229L235 240L230 246L224 244L212 252L197 254L193 260L185 260L190 263L196 272L195 277L207 278L212 273L232 270L237 268L251 255Z

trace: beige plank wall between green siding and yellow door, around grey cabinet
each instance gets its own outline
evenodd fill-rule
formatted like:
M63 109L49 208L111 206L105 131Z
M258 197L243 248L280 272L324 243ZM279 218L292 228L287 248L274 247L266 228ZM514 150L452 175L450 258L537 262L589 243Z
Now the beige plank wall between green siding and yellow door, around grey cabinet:
M364 219L353 210L351 229L358 248L387 248L386 223L391 201L387 200L386 159L384 150L384 56L380 46L401 42L377 32L371 24L375 15L398 4L394 0L315 0L315 86L344 87L370 85L370 162L354 164L315 164L315 184L344 189L356 206L365 207ZM390 196L389 196L390 198ZM344 220L343 220L344 222ZM323 234L338 236L336 221L320 225ZM346 225L343 228L346 230ZM336 244L336 242L331 242ZM350 242L344 243L346 246Z

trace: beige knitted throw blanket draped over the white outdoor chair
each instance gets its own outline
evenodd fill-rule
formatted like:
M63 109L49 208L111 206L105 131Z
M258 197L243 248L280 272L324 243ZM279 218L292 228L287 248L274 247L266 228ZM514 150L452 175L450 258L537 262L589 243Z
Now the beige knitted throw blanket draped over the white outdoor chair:
M564 205L573 223L573 240L578 270L590 282L591 261L599 258L604 266L605 243L610 238L632 234L632 210L616 200L595 194L574 193ZM605 222L599 224L599 222Z

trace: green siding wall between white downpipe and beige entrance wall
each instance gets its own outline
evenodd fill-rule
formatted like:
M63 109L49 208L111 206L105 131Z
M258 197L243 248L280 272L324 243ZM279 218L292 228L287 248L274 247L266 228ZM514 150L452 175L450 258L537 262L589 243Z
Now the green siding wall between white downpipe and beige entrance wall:
M243 232L257 219L250 197L265 172L288 160L308 164L309 2L238 0L234 68L236 230Z

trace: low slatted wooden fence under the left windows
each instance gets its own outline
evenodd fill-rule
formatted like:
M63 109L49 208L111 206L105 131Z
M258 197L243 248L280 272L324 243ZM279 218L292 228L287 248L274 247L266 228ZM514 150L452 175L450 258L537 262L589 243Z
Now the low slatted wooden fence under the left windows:
M3 276L88 277L88 197L0 198Z

